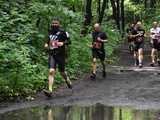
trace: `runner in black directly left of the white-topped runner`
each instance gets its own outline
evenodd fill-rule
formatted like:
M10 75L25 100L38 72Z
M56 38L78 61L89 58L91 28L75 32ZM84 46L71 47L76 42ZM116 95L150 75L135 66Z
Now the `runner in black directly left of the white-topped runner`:
M139 66L139 68L143 67L144 34L145 34L145 30L142 28L142 23L139 21L135 26L135 30L132 36L133 38L135 38L134 40L135 66Z

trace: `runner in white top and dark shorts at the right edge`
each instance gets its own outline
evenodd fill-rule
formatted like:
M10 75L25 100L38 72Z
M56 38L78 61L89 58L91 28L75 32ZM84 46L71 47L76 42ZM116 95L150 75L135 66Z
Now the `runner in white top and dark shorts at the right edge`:
M150 30L150 38L151 38L151 66L154 67L155 63L158 62L160 65L160 59L158 58L158 52L160 51L160 28L158 27L158 22L153 22L153 28ZM157 58L157 60L156 60Z

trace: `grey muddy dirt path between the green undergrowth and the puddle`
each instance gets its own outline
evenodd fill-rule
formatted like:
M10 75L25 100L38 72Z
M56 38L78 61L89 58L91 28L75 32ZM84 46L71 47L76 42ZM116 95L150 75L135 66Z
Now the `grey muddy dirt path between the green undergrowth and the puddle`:
M62 86L51 99L39 93L33 101L0 103L0 113L40 105L88 106L96 103L137 109L159 109L160 68L149 67L149 59L149 50L146 49L144 68L135 68L132 55L124 46L120 50L118 64L107 66L105 79L101 77L99 70L96 81L91 81L89 75L85 75L81 80L74 82L73 91Z

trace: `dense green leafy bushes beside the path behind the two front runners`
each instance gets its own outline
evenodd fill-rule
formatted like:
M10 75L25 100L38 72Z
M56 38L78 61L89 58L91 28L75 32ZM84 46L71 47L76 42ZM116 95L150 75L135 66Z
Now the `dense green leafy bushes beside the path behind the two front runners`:
M68 6L68 4L82 5L75 0L67 2L63 1L63 4L60 0L0 2L0 96L3 99L27 97L46 88L48 60L44 43L54 17L63 20L62 26L71 35L68 74L72 79L77 79L78 74L89 71L91 50L88 45L91 44L91 38L90 35L80 37L82 14L74 13ZM103 27L109 34L106 49L110 56L119 43L119 34L114 25ZM61 83L61 77L57 74L56 85Z

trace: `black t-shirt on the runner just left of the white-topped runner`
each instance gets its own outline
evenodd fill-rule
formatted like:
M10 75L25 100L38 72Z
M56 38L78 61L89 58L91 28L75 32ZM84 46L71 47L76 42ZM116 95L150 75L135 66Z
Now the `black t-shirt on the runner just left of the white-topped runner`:
M144 34L145 34L145 30L143 28L136 28L133 31L133 35L138 35L136 37L135 43L143 43L144 42Z

